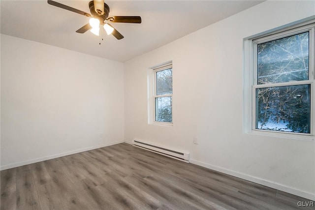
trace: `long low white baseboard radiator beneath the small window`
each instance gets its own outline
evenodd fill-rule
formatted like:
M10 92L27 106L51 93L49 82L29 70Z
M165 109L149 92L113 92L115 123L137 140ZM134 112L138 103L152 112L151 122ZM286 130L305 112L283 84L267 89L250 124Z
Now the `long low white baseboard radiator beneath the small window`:
M150 150L158 154L162 154L162 155L172 157L178 160L189 162L190 154L187 152L169 150L169 149L162 148L157 145L153 145L151 143L147 143L147 142L143 142L139 140L133 140L132 145L138 148Z

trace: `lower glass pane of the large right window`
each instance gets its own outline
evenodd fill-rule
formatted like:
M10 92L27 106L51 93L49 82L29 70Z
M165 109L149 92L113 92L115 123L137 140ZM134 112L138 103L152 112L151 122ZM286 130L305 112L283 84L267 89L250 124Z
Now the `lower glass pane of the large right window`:
M256 89L256 129L310 133L311 85Z

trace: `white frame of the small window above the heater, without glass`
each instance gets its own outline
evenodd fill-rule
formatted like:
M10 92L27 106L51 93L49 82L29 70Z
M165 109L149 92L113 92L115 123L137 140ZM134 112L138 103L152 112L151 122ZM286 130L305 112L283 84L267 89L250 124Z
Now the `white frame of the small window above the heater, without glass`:
M148 123L154 125L173 126L173 94L157 95L157 72L172 68L171 61L148 69ZM156 98L171 97L172 122L156 121Z

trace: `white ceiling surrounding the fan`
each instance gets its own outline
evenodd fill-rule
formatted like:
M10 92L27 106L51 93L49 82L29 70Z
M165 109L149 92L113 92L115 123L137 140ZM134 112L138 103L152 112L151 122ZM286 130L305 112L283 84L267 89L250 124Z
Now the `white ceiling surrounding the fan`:
M89 0L56 0L90 13ZM109 15L141 16L141 24L113 23L125 38L75 31L89 18L46 0L0 0L1 33L110 60L126 61L263 0L105 0Z

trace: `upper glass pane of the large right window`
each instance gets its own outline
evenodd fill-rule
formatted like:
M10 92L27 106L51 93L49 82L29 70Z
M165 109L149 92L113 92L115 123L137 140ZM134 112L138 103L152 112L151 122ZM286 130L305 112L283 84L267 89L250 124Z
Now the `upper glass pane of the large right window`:
M309 79L309 32L257 45L258 85Z

